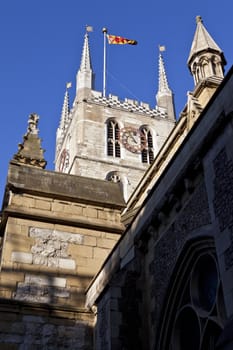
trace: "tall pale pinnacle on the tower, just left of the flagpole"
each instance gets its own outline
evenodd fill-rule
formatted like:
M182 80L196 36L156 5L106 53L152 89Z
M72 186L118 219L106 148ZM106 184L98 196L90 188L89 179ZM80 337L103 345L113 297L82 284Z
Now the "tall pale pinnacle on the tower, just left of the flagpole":
M86 32L84 36L81 64L77 73L76 94L78 100L87 97L92 89L94 89L94 73L91 64L89 38L88 33Z

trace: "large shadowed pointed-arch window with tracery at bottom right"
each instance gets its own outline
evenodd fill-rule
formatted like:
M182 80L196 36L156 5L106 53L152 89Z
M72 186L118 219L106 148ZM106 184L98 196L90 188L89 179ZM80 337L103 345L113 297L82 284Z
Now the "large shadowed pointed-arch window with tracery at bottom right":
M213 239L192 241L174 275L156 349L215 349L226 313Z

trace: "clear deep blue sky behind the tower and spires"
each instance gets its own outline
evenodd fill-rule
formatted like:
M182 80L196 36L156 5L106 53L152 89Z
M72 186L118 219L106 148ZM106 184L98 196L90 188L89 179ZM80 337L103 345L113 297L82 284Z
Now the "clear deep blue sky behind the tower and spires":
M158 86L158 45L165 45L164 61L175 95L177 115L193 80L187 58L196 28L195 17L224 51L226 71L233 63L233 5L210 0L1 0L0 2L0 110L2 198L10 159L27 129L28 115L40 116L47 169L53 169L55 135L66 82L80 65L85 26L92 25L90 49L96 90L102 90L103 35L121 35L137 46L108 46L107 94L155 105Z

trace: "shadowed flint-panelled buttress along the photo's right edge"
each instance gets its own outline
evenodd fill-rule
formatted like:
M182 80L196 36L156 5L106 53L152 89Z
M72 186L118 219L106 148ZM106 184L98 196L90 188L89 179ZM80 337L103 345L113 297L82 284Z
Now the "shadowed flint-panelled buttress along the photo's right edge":
M216 228L216 249L219 269L224 285L224 300L227 316L233 316L233 125L232 113L226 118L228 124L224 134L220 134L215 147L205 159L206 184L211 216Z

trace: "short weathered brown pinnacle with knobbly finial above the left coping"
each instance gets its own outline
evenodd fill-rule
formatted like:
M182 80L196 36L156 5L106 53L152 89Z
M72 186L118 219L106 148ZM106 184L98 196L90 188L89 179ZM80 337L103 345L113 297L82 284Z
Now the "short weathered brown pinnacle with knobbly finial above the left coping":
M38 121L37 114L29 115L27 133L23 137L23 142L18 145L18 152L14 155L13 161L44 169L47 162L44 159L44 150L41 148L41 139L38 136Z

